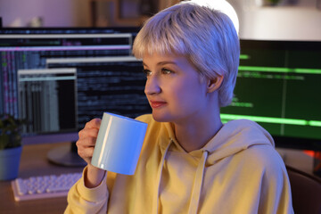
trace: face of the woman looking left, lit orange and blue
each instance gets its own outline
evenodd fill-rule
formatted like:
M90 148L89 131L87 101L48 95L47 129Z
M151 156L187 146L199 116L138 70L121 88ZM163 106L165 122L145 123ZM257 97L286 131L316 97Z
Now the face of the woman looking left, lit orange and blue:
M206 105L207 81L184 56L152 55L143 58L147 80L144 93L157 121L187 122L200 117Z

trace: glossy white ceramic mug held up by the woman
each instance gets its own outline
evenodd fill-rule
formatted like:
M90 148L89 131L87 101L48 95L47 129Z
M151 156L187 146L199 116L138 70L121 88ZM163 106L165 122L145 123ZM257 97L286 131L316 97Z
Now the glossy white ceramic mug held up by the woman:
M147 124L124 116L103 113L92 165L125 175L134 175Z

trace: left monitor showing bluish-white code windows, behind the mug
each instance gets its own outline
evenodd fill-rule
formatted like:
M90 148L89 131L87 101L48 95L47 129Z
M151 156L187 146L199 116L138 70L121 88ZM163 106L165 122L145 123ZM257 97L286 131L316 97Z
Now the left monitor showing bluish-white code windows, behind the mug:
M22 143L75 142L78 130L104 111L130 118L151 112L142 62L131 53L138 30L0 29L0 114L29 121ZM85 164L66 149L49 152L49 159Z

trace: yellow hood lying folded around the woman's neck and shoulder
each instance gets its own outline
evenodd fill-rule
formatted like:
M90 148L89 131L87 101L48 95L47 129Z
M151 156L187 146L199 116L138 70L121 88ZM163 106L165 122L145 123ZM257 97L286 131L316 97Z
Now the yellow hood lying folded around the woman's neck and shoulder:
M174 135L174 126L166 123L164 128L168 132L166 138L161 139L161 152L168 149L170 144L181 147ZM168 138L169 137L169 138ZM249 119L231 120L223 125L217 135L200 150L190 152L194 157L201 157L202 152L208 152L206 164L214 164L216 161L241 152L256 144L270 144L275 146L272 136L258 123Z

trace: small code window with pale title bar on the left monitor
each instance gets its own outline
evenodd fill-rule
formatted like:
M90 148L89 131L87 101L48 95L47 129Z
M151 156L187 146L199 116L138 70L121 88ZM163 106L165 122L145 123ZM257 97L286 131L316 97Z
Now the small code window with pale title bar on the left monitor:
M23 132L74 130L77 125L76 86L75 69L18 70L19 116L30 121Z

